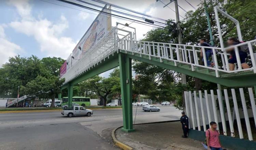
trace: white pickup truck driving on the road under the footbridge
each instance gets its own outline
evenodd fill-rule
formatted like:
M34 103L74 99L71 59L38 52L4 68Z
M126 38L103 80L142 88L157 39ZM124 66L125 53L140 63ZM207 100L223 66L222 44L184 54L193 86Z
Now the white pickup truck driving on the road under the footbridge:
M85 109L83 106L72 106L71 109L62 109L61 114L68 117L91 116L93 115L93 110Z

